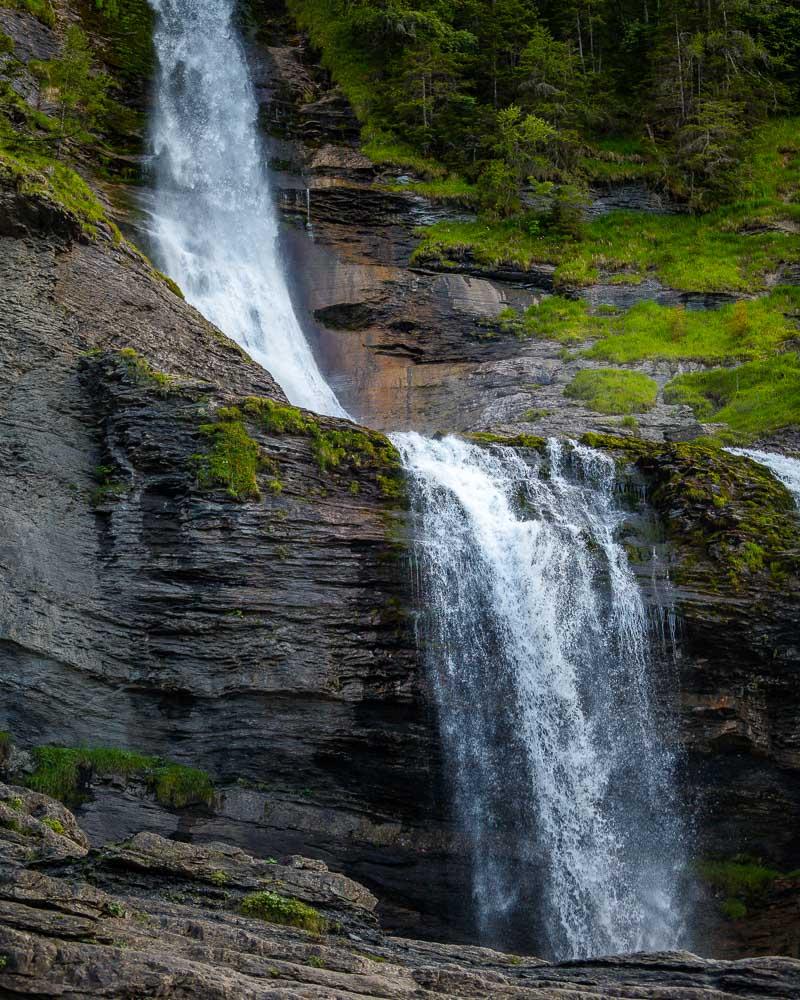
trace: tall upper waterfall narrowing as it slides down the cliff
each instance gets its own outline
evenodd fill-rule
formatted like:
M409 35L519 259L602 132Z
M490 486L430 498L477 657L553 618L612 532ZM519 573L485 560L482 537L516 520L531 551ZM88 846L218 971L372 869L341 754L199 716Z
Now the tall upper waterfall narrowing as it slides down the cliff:
M153 256L293 403L345 416L303 336L281 268L234 0L150 2L158 59Z

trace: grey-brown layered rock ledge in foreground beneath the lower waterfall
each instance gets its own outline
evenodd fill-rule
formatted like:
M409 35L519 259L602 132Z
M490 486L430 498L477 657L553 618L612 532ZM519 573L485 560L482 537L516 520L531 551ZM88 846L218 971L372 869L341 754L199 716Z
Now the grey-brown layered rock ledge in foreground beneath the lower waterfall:
M58 813L80 840L74 817L44 799L31 807ZM140 833L83 862L51 865L51 874L41 864L19 863L13 836L0 826L4 997L800 997L800 962L791 959L715 962L676 952L550 965L386 937L372 917L374 897L307 858L279 864L223 844ZM322 923L311 932L243 916L253 898L243 889L313 903L302 912Z

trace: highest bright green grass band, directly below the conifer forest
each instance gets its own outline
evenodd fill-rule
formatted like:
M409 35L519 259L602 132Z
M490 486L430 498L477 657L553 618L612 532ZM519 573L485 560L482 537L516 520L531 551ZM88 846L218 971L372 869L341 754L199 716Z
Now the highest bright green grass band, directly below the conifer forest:
M800 261L796 234L757 231L777 220L800 221L798 134L797 118L757 130L744 158L742 196L706 215L612 212L587 223L580 241L537 229L530 213L504 221L440 222L420 231L413 259L523 269L555 264L561 286L589 284L604 271L633 281L653 274L687 292L764 291L779 264Z

